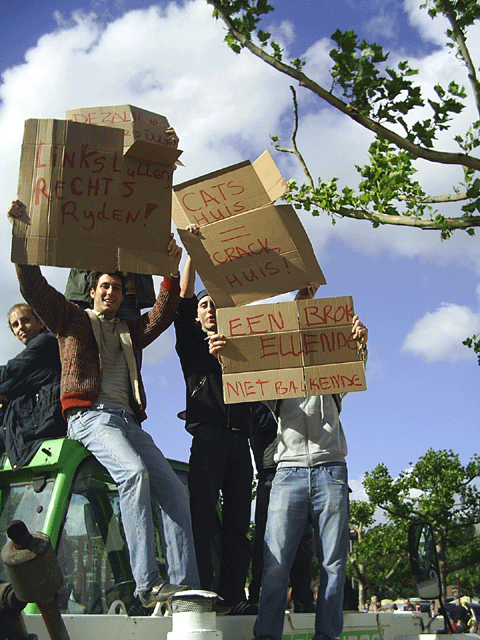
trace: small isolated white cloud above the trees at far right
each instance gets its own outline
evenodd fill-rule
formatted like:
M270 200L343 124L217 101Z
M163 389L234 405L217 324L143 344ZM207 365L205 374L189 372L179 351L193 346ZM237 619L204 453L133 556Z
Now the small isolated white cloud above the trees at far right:
M424 357L429 362L455 362L471 358L462 345L466 336L478 332L480 315L466 306L442 303L418 320L405 338L404 351Z

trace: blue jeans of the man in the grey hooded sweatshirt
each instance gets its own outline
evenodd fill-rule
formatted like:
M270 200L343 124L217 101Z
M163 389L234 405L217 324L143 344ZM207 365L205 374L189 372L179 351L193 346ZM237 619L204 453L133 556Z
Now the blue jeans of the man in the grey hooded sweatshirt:
M264 568L254 636L281 640L288 578L310 514L320 568L314 640L336 640L343 627L348 553L346 464L277 469L265 534Z

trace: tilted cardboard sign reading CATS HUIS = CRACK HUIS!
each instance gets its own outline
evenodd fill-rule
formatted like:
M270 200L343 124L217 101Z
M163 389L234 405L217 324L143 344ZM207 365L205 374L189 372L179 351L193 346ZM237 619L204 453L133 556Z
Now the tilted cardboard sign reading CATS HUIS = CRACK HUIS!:
M286 188L268 151L174 187L173 220L217 307L325 284L295 210L272 204ZM190 223L199 236L185 230Z

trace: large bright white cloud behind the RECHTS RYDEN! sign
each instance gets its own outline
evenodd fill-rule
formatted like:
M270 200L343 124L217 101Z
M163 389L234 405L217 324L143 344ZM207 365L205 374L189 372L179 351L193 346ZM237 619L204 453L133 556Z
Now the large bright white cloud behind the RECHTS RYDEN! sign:
M25 63L2 74L0 207L6 211L15 197L24 120L62 119L75 107L130 103L165 114L185 149L177 181L244 160L252 149L260 154L290 103L288 86L260 61L234 55L223 37L204 0L129 11L109 23L93 13L58 15L56 29L26 52ZM0 234L0 286L8 308L20 294L4 216ZM65 270L43 271L64 289ZM0 337L4 361L20 345L6 323L0 323ZM171 341L158 343L146 362L171 352Z

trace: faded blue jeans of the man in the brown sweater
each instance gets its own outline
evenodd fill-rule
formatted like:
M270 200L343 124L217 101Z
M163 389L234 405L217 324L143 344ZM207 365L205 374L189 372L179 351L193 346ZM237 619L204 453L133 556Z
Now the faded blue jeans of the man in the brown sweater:
M70 417L68 437L79 440L118 484L136 593L161 581L151 500L160 509L169 581L198 588L187 491L135 417L118 406L96 403Z

